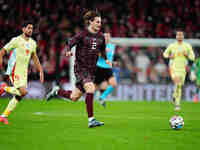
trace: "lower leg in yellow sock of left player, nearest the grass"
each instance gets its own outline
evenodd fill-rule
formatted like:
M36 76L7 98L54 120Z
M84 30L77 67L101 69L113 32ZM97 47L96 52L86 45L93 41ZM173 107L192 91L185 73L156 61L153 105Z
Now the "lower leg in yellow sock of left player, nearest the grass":
M14 95L13 98L9 101L6 109L0 116L0 122L3 122L4 124L8 124L7 118L9 114L16 108L17 103L19 103L19 101L21 101L21 99L27 94L27 90L24 87L18 88L17 90L19 91L20 96Z

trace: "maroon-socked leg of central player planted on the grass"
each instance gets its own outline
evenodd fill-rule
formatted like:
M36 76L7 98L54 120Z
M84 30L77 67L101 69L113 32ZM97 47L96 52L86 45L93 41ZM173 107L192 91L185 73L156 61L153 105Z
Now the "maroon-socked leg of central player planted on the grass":
M86 91L86 109L88 113L88 127L96 127L104 125L103 122L99 122L94 118L93 114L93 97L95 92L95 84L93 82L86 82L84 83L84 89Z

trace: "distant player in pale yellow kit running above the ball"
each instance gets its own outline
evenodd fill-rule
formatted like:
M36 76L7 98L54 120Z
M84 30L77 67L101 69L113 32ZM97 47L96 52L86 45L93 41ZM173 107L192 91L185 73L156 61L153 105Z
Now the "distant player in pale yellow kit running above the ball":
M176 40L175 43L172 43L167 47L163 56L170 59L170 76L175 84L173 102L175 103L175 111L179 111L187 63L188 60L194 61L195 56L192 46L183 41L184 34L182 30L176 31Z

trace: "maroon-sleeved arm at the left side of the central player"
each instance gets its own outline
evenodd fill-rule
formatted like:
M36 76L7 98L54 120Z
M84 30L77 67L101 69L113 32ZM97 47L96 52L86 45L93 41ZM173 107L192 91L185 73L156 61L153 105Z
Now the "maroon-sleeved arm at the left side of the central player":
M80 42L82 34L83 32L76 34L74 37L72 37L72 39L67 40L66 46L65 46L66 56L72 56L71 48Z

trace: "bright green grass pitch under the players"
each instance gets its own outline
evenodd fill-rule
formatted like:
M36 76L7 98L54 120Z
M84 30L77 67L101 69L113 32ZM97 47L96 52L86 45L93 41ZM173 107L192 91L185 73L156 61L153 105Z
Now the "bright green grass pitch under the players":
M0 112L8 103L0 99ZM95 102L95 116L105 125L88 128L83 101L24 100L0 124L0 150L189 150L200 146L200 104L182 103L185 126L172 130L169 102Z

